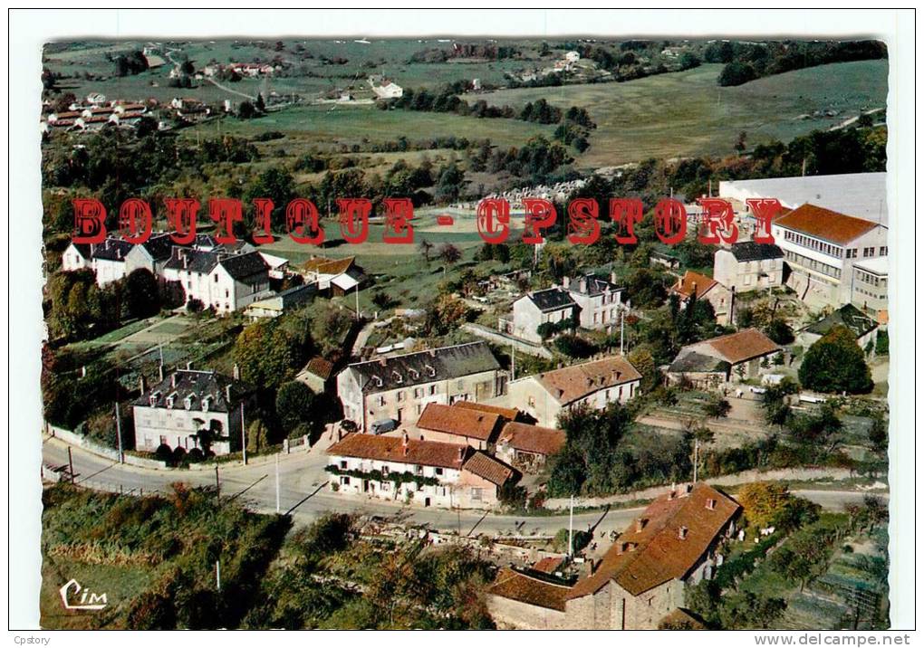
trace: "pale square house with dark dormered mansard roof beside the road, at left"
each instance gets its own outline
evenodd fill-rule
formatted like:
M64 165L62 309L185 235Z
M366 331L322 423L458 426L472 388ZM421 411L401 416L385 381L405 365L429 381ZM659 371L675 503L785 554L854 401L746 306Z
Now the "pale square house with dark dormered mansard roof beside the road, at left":
M178 369L150 390L142 382L132 403L135 448L153 452L166 444L215 455L240 450L242 405L246 408L249 399L238 380L214 371Z

